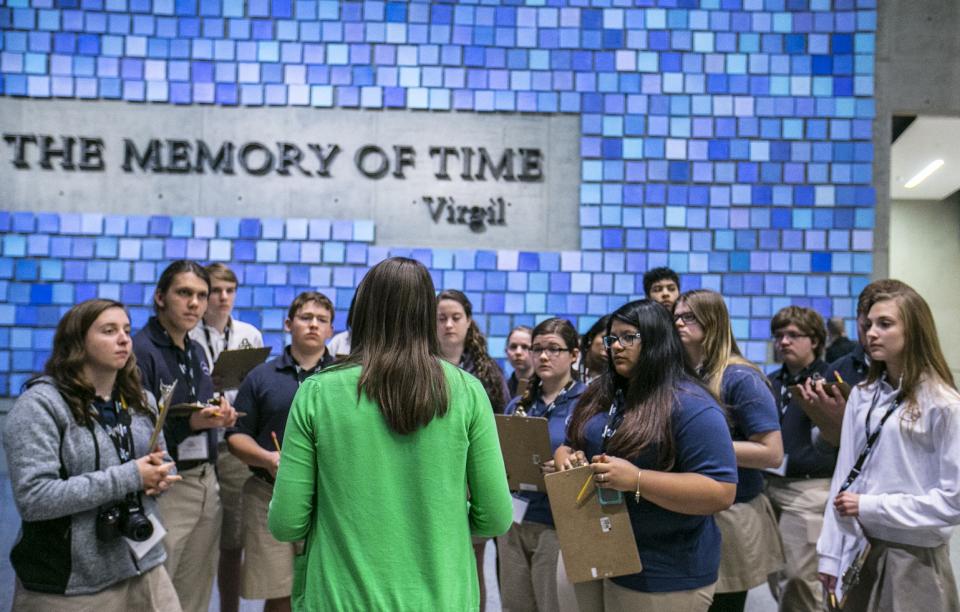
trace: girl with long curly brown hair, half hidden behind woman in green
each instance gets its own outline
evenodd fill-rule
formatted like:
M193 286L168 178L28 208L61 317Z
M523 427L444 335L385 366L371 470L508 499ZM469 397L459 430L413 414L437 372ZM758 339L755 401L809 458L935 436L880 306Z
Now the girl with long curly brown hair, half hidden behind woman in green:
M510 389L500 367L487 352L487 339L473 320L473 304L462 291L446 289L437 296L437 336L440 338L441 356L476 376L487 392L493 411L502 413L510 401ZM477 581L480 583L481 610L487 601L483 577L486 548L486 538L474 538L473 552L477 563Z

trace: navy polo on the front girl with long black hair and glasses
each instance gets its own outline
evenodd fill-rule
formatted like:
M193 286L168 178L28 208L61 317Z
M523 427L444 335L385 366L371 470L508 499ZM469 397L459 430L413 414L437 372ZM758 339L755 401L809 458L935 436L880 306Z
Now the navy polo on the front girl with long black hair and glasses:
M737 459L726 417L698 385L682 382L671 414L676 460L671 472L694 472L720 482L737 482ZM600 454L606 411L586 423L587 457ZM632 460L640 469L661 469L658 448ZM645 593L686 591L713 584L720 567L720 529L713 516L680 514L624 493L643 571L612 580Z

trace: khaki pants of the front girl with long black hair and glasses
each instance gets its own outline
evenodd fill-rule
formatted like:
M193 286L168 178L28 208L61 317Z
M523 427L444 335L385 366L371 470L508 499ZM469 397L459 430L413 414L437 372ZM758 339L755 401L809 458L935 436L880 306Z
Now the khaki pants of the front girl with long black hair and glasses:
M643 593L611 580L573 584L567 579L563 555L557 563L557 596L560 612L706 612L713 603L716 585L672 591Z

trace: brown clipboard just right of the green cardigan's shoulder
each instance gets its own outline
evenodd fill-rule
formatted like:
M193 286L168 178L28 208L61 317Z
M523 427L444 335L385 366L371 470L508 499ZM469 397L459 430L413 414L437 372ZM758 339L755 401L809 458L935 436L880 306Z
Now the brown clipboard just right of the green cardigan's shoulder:
M547 419L504 414L494 417L510 490L545 492L540 464L553 459Z

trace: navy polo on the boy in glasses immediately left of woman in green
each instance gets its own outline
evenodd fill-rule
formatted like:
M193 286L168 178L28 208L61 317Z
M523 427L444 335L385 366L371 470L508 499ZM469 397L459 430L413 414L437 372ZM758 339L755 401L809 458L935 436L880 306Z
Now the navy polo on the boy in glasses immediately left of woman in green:
M323 358L316 367L304 370L297 364L290 353L290 347L287 346L283 349L283 354L276 359L255 367L243 379L233 404L238 411L247 414L237 419L236 425L227 431L227 437L236 433L247 434L257 441L260 448L276 450L270 432L277 434L277 440L282 445L287 415L300 383L333 361L330 352L324 351ZM263 468L250 466L250 471L268 482L273 482L270 473Z

